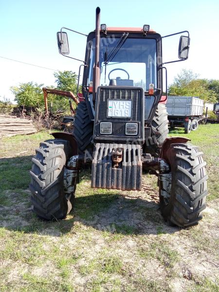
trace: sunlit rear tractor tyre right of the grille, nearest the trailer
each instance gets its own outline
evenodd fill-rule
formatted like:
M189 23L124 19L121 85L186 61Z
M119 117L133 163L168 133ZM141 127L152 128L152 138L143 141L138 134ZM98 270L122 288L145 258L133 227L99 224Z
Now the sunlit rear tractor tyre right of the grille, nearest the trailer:
M158 104L157 110L155 111L154 118L151 125L155 128L159 135L157 136L157 142L159 145L164 143L164 140L168 135L168 114L164 104Z

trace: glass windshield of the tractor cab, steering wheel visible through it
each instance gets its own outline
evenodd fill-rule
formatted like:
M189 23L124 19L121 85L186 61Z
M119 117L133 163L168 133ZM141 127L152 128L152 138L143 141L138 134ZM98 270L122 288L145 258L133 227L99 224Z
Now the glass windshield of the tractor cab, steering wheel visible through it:
M153 83L156 88L156 40L127 37L118 49L120 41L120 37L102 37L100 39L100 85L139 86L148 91L149 84ZM95 38L91 46L89 83L92 81ZM116 54L113 54L115 48L117 48ZM111 55L112 57L110 57ZM112 80L116 80L116 83L113 83Z

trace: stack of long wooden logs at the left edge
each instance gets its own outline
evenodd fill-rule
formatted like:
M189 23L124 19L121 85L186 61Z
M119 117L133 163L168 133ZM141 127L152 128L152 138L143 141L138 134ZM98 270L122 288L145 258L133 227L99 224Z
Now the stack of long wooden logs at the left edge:
M32 120L19 119L16 116L0 115L0 138L36 133Z

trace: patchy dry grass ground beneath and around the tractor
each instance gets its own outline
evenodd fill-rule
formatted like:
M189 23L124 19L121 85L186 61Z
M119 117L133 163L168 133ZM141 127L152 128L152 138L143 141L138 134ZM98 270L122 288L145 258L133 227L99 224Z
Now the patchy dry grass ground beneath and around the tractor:
M219 198L219 125L170 135L189 137L204 152L213 208ZM0 141L0 291L172 292L187 267L194 277L183 279L179 290L219 292L217 207L204 213L198 227L168 227L153 201L158 194L153 175L144 176L146 190L124 196L91 189L91 171L83 170L73 213L58 222L38 219L30 209L29 169L35 147L50 138L41 132ZM150 192L147 201L144 194ZM201 276L197 266L203 268Z

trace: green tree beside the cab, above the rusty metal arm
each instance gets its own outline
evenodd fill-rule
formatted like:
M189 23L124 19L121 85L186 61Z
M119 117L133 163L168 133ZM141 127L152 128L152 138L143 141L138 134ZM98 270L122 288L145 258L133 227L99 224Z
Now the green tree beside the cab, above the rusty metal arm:
M72 91L77 93L77 75L72 71L58 71L54 73L58 90Z

